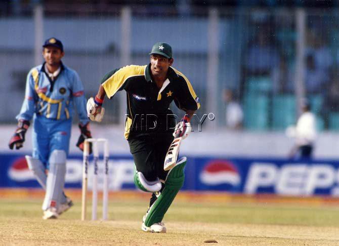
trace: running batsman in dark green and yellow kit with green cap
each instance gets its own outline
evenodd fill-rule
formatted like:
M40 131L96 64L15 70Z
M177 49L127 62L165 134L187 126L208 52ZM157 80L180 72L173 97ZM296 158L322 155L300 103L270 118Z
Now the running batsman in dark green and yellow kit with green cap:
M174 59L170 45L156 43L150 55L148 65L108 72L96 97L89 99L87 112L91 120L101 121L105 95L111 99L118 91L126 91L125 138L135 162L134 181L138 188L152 193L142 230L166 232L162 219L184 183L186 157L170 171L163 170L164 159L174 135L189 134L190 119L200 104L187 77L171 67ZM177 126L168 109L173 100L186 112Z

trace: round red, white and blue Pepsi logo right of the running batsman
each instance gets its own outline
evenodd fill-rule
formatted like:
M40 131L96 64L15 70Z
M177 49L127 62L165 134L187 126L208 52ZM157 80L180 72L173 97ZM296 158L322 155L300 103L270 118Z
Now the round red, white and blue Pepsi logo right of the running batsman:
M199 175L199 179L206 185L240 184L240 175L237 168L228 160L212 160L208 162Z

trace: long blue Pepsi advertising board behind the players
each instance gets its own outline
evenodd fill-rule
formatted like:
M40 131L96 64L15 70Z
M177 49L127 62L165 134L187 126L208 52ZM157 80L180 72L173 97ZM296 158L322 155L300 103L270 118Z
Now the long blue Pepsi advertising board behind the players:
M224 191L244 194L292 196L339 195L339 161L291 161L269 158L212 158L187 156L183 190ZM0 154L0 188L38 188L25 157ZM102 188L103 163L99 161L98 187ZM89 166L89 188L93 165ZM132 156L111 156L109 189L136 189ZM80 188L82 155L67 159L66 188Z

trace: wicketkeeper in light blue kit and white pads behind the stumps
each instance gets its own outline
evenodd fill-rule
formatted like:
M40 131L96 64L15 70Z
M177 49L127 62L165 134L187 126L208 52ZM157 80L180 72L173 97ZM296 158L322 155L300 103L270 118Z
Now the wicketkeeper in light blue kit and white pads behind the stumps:
M60 40L46 40L45 62L27 75L25 99L16 117L18 128L9 143L10 149L23 147L32 120L33 153L25 157L36 180L46 190L43 219L56 219L73 205L63 192L73 105L80 120L77 146L82 150L84 140L91 138L83 85L78 74L61 62L64 54Z

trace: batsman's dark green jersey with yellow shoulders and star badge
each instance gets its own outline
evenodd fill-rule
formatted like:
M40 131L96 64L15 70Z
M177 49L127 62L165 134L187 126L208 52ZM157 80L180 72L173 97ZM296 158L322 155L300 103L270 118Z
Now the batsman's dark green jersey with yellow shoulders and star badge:
M149 122L146 122L145 118L144 125L151 129L154 124L160 127L157 129L157 133L165 131L167 128L165 127L167 125L166 115L172 112L168 109L172 101L185 111L197 110L200 107L199 98L184 74L169 67L167 79L159 89L152 81L150 67L151 64L125 66L108 72L101 81L108 98L112 98L118 91L126 91L126 139L129 138L130 133L137 133L137 129L132 127L136 120L140 119L142 125L143 117L141 115L144 117L156 115L150 116ZM154 123L155 118L157 121ZM142 134L148 134L148 132L143 130Z

